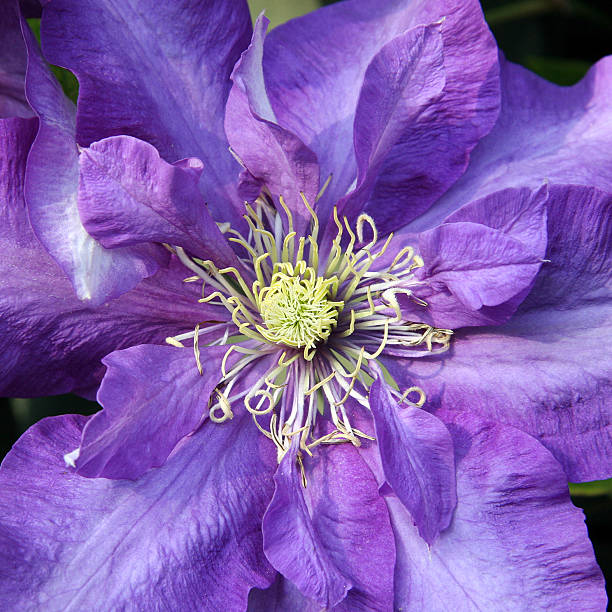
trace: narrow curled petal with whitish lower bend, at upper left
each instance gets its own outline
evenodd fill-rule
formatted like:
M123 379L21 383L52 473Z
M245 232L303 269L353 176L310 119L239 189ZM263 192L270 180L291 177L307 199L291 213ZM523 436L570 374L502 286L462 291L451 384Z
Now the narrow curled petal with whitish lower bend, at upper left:
M151 276L166 262L166 256L148 245L107 251L83 228L77 210L74 107L44 64L26 26L24 36L28 47L26 93L40 120L26 174L30 222L79 298L96 306Z

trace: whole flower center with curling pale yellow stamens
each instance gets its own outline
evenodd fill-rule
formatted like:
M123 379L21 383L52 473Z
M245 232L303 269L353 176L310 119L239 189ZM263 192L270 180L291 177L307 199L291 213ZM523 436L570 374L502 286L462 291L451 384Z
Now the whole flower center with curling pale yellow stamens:
M225 307L231 320L166 339L178 346L193 340L200 374L200 338L227 346L209 417L222 423L243 403L276 445L279 461L294 443L309 454L319 444L359 446L369 436L352 426L350 413L356 405L369 409L383 351L400 358L443 352L453 333L402 315L399 295L427 306L414 294L421 284L414 271L423 261L412 247L389 257L392 234L379 241L370 217L361 215L351 227L334 209L336 237L320 254L319 220L302 198L312 222L301 237L282 198L284 220L265 195L247 205L248 235L226 230L242 247L240 269L218 269L174 249L195 273L185 281L202 282L200 301ZM391 392L400 403L425 402L417 387L395 385Z

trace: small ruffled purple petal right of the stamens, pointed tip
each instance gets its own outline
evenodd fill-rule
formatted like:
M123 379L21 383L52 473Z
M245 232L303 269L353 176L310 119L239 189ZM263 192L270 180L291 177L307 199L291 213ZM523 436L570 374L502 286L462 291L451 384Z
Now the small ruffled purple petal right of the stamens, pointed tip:
M424 260L415 272L424 284L415 293L427 302L424 308L399 295L404 317L450 329L507 321L546 253L548 195L547 186L505 189L463 206L435 229L400 231L395 249L416 246Z

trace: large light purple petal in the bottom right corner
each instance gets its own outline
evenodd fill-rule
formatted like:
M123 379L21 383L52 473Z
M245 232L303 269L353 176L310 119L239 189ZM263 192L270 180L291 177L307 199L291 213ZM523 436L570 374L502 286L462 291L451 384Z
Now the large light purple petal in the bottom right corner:
M458 503L431 547L387 498L398 547L394 609L605 610L582 512L561 466L536 440L469 412L449 422Z

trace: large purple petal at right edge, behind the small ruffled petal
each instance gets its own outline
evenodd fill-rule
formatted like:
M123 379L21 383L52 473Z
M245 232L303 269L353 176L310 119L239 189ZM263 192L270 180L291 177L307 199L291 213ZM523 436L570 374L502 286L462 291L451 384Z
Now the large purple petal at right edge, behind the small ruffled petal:
M456 334L442 360L386 360L391 374L421 386L432 409L469 409L538 438L572 481L609 478L611 212L596 189L551 189L551 261L513 319Z

